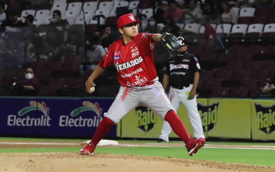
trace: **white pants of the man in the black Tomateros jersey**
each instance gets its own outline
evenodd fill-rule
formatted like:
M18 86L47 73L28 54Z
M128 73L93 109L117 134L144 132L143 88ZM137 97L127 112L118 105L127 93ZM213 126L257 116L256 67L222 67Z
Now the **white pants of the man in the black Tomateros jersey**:
M184 89L176 89L171 87L168 99L170 100L172 106L177 111L180 107L180 103L182 102L185 106L190 122L193 126L194 134L196 138L205 138L203 129L202 129L202 120L200 119L200 113L197 108L197 99L196 96L194 99L188 100L188 96L190 91L193 88L193 84L190 84L189 87ZM163 127L161 129L160 138L165 140L166 142L169 141L169 134L171 133L172 128L167 121L163 121Z

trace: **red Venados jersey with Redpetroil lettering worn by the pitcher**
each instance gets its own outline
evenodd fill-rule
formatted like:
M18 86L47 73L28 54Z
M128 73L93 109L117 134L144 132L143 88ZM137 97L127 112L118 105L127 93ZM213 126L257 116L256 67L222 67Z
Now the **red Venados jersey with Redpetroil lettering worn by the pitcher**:
M153 51L153 34L137 34L129 43L119 39L108 48L98 64L102 68L115 64L117 80L122 86L145 86L157 77Z

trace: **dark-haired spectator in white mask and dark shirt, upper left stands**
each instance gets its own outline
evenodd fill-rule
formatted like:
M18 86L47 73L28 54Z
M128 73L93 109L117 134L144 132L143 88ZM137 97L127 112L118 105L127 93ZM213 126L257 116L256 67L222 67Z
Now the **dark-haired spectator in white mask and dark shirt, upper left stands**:
M52 21L48 26L46 41L54 47L59 47L61 44L66 45L68 39L68 29L70 27L68 21L62 20L59 10L53 11Z

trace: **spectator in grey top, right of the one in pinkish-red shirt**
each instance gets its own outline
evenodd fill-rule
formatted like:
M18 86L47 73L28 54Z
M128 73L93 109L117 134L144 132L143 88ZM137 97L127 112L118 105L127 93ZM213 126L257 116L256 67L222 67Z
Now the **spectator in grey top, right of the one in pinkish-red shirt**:
M197 0L189 1L189 9L182 10L184 14L184 23L190 24L197 22L198 19L202 18L202 10L200 6L197 4Z

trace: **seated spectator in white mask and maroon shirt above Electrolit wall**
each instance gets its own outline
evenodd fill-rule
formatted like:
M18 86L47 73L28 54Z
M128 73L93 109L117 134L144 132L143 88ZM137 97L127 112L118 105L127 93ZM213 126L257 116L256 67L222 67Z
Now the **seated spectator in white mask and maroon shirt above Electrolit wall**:
M40 88L40 81L34 77L34 70L29 67L25 71L25 78L19 83L15 83L9 95L36 95Z

